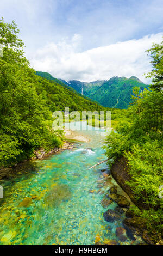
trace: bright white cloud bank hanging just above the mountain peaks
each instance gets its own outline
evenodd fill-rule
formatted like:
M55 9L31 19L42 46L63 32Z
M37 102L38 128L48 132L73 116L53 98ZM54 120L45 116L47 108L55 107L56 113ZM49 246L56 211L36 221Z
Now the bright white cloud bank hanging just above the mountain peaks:
M158 33L80 52L82 36L74 34L71 40L66 38L40 48L30 63L35 70L65 80L95 81L134 75L147 83L143 74L151 70L151 65L146 50L153 42L161 41L162 33Z

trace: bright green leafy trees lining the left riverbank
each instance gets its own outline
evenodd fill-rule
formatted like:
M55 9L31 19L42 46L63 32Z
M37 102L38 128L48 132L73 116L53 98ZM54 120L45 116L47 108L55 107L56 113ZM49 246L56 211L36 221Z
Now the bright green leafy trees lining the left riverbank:
M0 166L22 161L37 148L59 147L51 130L51 112L37 91L34 70L23 54L17 25L0 20Z

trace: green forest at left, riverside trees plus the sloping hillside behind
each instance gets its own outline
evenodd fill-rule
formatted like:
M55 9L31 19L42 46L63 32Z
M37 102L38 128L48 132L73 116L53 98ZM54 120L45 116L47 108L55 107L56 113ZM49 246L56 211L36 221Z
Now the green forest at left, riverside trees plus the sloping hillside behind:
M0 167L30 159L40 147L61 147L62 132L52 130L54 111L104 109L57 80L36 76L18 33L14 21L0 20Z

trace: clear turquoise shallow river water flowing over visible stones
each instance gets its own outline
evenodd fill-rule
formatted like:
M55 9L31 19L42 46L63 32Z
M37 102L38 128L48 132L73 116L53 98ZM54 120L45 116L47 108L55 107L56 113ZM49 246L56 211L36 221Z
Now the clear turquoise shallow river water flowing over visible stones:
M1 245L94 245L115 240L129 245L126 237L121 242L115 234L122 226L124 214L110 223L103 218L107 209L101 200L114 180L109 181L101 169L105 160L101 149L104 138L96 131L82 134L91 139L77 143L76 148L53 155L46 160L26 163L22 172L1 182L4 199L0 201ZM104 175L104 176L103 176ZM137 241L137 240L136 240Z

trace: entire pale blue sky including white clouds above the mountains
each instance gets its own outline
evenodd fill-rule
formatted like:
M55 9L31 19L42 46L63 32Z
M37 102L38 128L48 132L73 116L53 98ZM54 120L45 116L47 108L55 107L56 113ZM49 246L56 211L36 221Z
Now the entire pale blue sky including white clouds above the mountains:
M162 0L0 3L0 16L18 24L35 69L82 81L136 75L147 82L142 75L151 67L145 50L161 42L162 13Z

